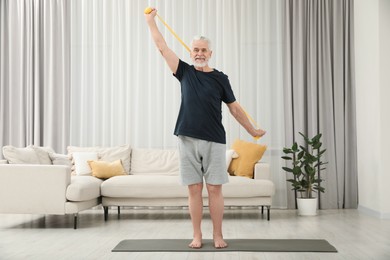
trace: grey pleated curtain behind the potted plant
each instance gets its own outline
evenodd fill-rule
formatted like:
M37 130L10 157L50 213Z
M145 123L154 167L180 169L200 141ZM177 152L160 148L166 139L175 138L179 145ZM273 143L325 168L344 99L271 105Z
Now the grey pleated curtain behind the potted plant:
M286 143L323 133L321 208L356 208L353 0L289 0L284 13Z

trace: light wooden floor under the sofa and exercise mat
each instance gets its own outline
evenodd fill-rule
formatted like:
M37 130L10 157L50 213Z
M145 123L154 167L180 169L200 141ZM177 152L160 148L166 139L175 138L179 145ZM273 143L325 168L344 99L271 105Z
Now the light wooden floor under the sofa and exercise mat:
M271 210L271 221L258 209L226 209L225 238L326 239L338 253L112 253L123 239L190 239L186 209L111 209L104 222L101 209L72 216L0 214L0 259L390 259L390 220L357 210L322 210L298 217L295 210ZM205 209L204 238L212 238Z

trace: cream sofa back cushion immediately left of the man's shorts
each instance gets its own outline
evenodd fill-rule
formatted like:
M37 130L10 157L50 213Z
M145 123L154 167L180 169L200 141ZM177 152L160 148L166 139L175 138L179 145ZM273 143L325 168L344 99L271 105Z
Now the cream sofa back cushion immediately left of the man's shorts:
M177 150L137 149L131 153L131 171L134 175L178 175Z

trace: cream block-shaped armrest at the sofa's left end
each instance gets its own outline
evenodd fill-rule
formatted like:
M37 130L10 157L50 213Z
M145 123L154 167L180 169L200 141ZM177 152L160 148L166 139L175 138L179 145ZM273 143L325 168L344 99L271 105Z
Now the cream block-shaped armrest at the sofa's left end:
M0 164L0 213L64 214L70 168Z

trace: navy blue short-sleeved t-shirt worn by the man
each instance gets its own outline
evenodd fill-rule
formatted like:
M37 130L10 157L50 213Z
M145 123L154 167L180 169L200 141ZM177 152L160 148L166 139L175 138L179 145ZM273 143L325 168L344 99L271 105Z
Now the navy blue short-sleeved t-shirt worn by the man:
M228 77L215 69L198 71L182 60L174 76L181 83L181 105L174 134L226 144L222 102L236 101Z

